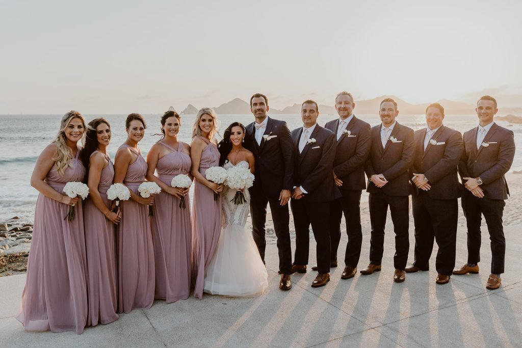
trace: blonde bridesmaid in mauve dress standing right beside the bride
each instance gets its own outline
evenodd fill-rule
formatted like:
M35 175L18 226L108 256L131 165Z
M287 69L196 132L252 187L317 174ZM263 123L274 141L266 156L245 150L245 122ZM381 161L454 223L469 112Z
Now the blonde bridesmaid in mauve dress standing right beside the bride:
M195 179L194 208L192 211L193 282L194 297L203 296L205 269L209 265L221 233L221 199L214 200L223 185L205 178L208 168L219 166L219 151L214 136L217 133L217 115L209 107L199 110L192 128L191 172Z

